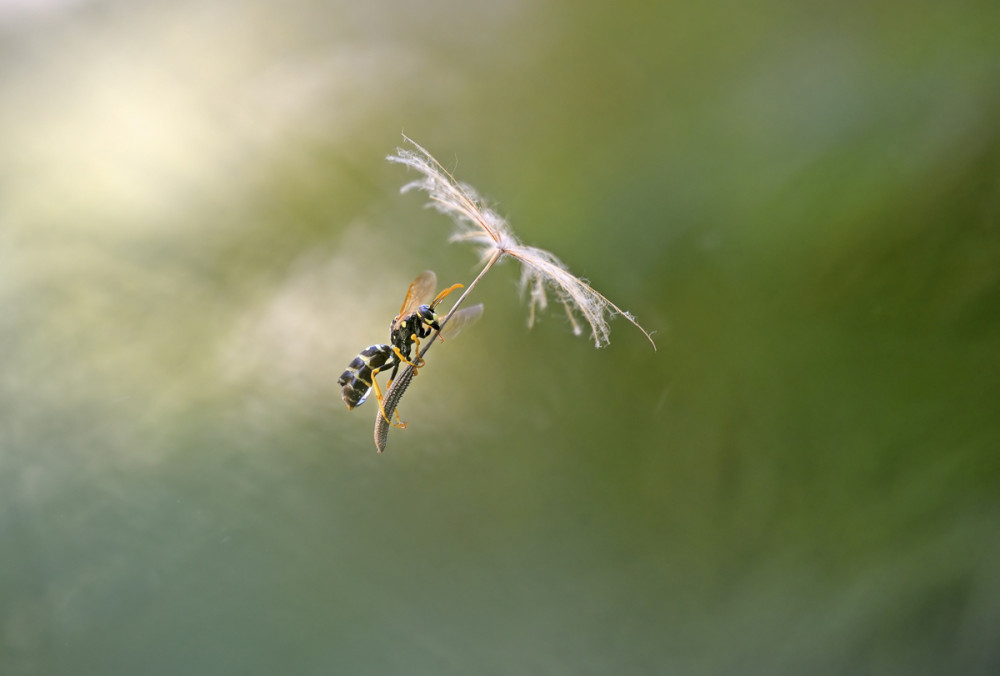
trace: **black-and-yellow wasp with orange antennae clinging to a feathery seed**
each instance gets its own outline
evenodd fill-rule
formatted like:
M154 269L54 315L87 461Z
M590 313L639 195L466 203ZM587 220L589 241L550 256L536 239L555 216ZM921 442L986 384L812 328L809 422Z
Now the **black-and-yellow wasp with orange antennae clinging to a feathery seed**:
M406 423L400 421L393 423L385 414L382 390L379 388L375 376L383 371L392 369L389 375L389 384L396 378L401 364L409 364L414 368L424 365L420 359L420 340L431 335L431 331L437 331L438 337L443 341L445 338L454 338L463 328L479 319L483 313L482 303L470 308L456 311L444 329L441 328L441 317L435 312L438 304L445 299L455 289L462 288L461 284L453 284L441 293L434 295L437 288L437 275L427 270L417 276L406 291L403 305L399 308L399 314L389 324L389 342L369 345L363 349L357 357L351 360L347 369L340 374L337 383L343 388L342 394L347 408L353 409L365 403L365 399L375 390L375 398L378 400L382 417L387 423L395 427L406 427ZM428 300L431 300L428 303ZM411 359L415 354L416 361ZM399 420L399 413L396 413Z

